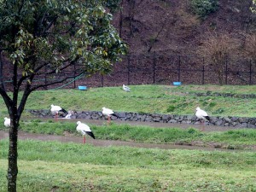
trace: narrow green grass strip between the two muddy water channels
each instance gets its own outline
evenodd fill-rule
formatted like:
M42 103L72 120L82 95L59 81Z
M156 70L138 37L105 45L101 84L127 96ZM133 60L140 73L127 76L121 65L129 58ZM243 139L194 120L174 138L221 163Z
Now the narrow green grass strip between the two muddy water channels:
M3 121L3 120L1 120ZM0 124L3 125L3 122ZM86 123L86 120L84 119ZM89 124L90 125L90 124ZM66 134L81 137L75 130L76 121L54 122L42 119L22 120L20 131L49 135ZM0 130L4 129L2 126ZM256 130L240 129L232 131L201 132L193 125L189 129L175 128L169 125L166 128L155 128L143 125L90 125L96 139L119 140L136 143L184 144L213 148L252 149L256 146Z

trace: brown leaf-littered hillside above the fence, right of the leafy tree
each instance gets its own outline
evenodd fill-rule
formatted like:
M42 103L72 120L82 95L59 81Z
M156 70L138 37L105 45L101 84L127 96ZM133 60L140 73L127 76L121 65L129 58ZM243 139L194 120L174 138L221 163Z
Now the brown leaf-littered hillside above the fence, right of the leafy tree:
M191 1L123 0L113 24L131 55L193 55L208 33L227 33L242 41L244 32L254 30L251 0L218 0L217 11L203 20L193 13Z

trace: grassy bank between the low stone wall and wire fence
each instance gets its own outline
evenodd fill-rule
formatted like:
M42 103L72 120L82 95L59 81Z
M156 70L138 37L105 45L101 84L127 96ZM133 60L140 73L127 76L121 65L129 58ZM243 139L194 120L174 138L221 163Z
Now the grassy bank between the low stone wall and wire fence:
M256 86L183 85L131 85L127 93L121 87L92 88L81 90L47 90L32 93L26 109L49 109L50 104L73 110L96 110L102 107L115 111L143 113L194 114L200 106L212 116L254 117L255 99L223 96L195 96L195 92L254 94ZM0 102L2 116L7 114Z

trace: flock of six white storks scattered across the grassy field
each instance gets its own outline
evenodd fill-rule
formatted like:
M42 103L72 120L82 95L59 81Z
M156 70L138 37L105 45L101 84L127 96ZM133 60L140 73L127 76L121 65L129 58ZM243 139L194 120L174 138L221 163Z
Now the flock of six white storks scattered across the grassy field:
M123 84L123 90L125 90L126 92L131 91L131 89L128 86L126 86L125 84ZM67 113L67 115L63 119L71 119L71 116L73 114L72 112L67 112L64 108L61 108L60 106L56 106L56 105L50 105L50 112L53 115L55 115L55 119L58 118L58 113ZM102 108L102 114L108 116L108 124L110 123L111 116L119 117L116 113L113 112L112 109L105 108L105 107ZM196 108L195 115L198 119L201 120L201 124L204 123L206 120L208 120L208 121L210 120L207 112L205 112L204 110L201 110L201 108ZM3 124L6 127L9 127L10 119L5 117ZM95 139L95 136L94 136L93 132L90 130L90 127L88 125L82 123L81 121L77 122L76 130L84 136L83 143L85 143L85 135L89 135L90 137Z

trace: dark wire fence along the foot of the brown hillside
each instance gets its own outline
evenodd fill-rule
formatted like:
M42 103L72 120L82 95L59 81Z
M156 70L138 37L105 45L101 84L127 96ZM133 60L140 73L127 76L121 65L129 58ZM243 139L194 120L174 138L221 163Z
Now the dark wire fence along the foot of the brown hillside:
M79 67L79 66L77 66ZM76 66L63 75L76 74ZM256 68L252 61L239 59L231 61L226 58L222 66L224 84L256 84ZM51 79L58 79L55 74ZM48 82L42 75L35 82ZM8 82L8 81L7 81ZM218 73L211 63L204 58L188 55L126 55L122 61L113 65L113 72L107 75L96 73L90 77L79 76L67 79L63 84L55 84L46 89L77 88L79 85L89 87L119 86L122 84L219 84Z

